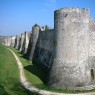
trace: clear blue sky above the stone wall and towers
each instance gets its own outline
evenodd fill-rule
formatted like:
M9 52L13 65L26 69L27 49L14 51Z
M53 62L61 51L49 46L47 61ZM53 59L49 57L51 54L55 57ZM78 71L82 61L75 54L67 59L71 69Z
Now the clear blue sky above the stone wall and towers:
M95 0L0 0L0 36L20 35L34 24L54 27L54 11L64 7L89 8L95 19Z

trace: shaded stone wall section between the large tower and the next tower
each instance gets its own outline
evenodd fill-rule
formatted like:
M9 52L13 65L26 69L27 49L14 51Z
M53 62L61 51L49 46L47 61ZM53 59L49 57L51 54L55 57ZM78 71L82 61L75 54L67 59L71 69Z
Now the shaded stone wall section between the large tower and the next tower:
M33 61L50 68L53 60L53 34L54 30L39 32L37 45L33 55Z

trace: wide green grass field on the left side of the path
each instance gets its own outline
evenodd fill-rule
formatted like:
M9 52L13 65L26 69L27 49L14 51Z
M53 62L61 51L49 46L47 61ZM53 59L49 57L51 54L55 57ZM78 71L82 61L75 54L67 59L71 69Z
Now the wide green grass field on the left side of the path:
M0 44L0 95L38 95L20 83L19 70L12 53Z

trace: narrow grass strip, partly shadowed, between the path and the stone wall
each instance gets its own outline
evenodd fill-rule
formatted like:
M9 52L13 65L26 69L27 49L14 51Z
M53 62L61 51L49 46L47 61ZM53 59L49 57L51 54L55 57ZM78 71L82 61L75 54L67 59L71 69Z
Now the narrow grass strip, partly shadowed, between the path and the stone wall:
M16 55L19 57L21 62L23 63L24 66L24 72L25 76L27 77L27 80L30 81L31 84L34 86L52 91L52 92L59 92L59 93L84 93L84 92L93 92L95 90L91 91L79 91L79 90L67 90L67 89L51 89L47 85L44 84L44 79L47 77L46 74L43 72L42 68L38 66L37 64L32 64L32 62L26 60L22 54L18 52L18 50L11 48Z

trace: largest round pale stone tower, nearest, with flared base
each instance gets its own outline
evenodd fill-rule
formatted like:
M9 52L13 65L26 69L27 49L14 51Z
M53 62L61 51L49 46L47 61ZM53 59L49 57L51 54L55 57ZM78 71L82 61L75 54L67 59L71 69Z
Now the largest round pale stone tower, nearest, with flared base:
M49 86L69 89L91 84L88 23L88 9L63 8L54 12L53 65Z

